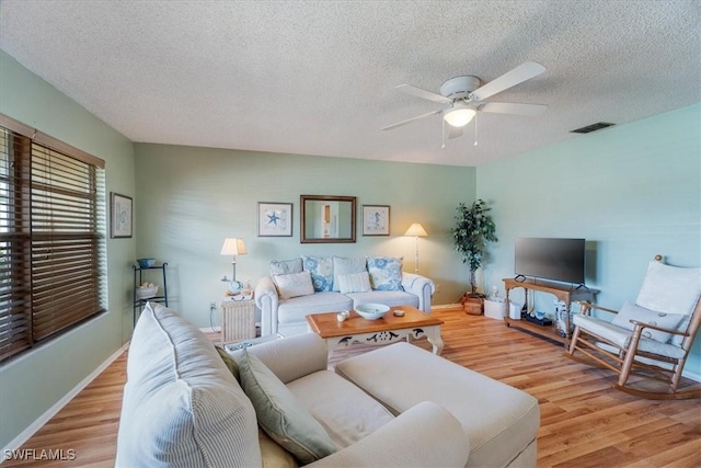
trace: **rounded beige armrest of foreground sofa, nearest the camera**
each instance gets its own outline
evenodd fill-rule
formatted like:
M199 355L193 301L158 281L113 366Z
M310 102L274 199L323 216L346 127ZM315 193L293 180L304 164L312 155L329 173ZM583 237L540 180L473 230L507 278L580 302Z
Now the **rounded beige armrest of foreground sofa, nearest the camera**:
M458 420L438 404L424 401L333 455L308 467L460 467L470 444Z

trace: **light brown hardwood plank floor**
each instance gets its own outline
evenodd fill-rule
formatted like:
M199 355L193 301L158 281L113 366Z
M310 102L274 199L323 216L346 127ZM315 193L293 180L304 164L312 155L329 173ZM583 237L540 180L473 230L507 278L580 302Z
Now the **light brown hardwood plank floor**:
M445 321L444 357L538 398L539 467L701 466L701 400L641 400L611 389L610 372L570 361L559 345L482 316L434 313ZM416 344L429 349L426 340ZM334 353L330 365L368 350ZM42 449L62 449L66 455L72 449L76 459L34 465L114 465L126 354L22 447L37 455ZM3 464L20 465L28 464Z

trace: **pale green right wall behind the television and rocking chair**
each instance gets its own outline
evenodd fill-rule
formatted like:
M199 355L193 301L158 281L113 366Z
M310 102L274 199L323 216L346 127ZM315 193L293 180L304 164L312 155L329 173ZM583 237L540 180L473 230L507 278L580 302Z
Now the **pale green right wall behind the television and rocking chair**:
M585 238L596 301L634 301L655 254L701 266L701 104L480 167L478 196L492 204L499 238L485 285L504 294L516 237ZM553 312L552 296L536 298ZM686 369L701 377L701 340Z

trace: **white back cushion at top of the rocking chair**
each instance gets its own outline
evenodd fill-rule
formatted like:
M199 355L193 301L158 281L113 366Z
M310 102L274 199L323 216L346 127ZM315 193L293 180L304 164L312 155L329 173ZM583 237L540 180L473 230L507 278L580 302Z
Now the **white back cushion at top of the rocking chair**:
M691 312L701 296L701 269L683 269L650 262L635 304L656 312L688 316L677 330L686 331ZM673 335L671 343L681 346L683 336Z

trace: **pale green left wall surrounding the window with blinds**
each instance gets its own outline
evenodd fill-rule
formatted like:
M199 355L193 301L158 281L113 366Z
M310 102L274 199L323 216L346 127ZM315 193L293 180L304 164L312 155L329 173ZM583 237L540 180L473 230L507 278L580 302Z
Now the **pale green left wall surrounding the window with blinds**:
M107 192L134 196L131 141L2 50L0 112L104 159ZM0 366L0 447L5 447L129 339L128 269L135 251L135 239L107 240L107 313Z

